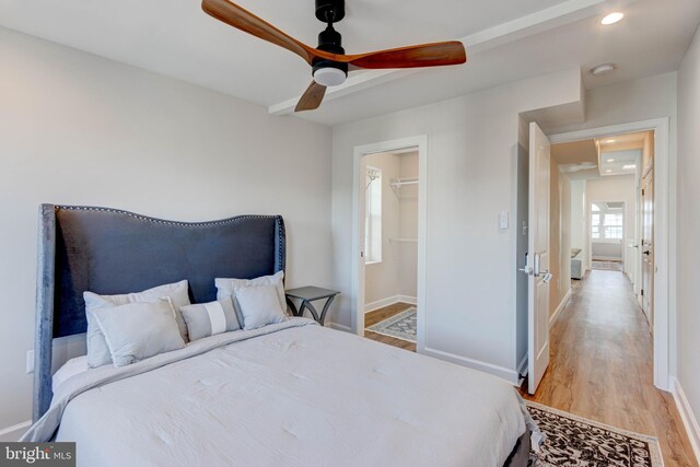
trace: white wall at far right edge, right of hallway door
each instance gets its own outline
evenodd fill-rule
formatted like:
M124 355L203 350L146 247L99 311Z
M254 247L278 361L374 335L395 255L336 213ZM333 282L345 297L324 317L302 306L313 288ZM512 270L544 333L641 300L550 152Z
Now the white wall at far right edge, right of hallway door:
M700 460L700 30L678 72L678 381L695 413ZM691 423L690 423L691 424Z

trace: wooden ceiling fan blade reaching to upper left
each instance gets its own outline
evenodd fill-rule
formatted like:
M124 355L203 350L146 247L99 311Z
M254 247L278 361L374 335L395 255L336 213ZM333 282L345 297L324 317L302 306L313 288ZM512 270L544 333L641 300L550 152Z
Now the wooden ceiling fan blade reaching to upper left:
M306 60L308 65L311 65L311 60L315 56L315 48L296 40L229 0L203 0L201 9L210 16L235 28L293 51Z

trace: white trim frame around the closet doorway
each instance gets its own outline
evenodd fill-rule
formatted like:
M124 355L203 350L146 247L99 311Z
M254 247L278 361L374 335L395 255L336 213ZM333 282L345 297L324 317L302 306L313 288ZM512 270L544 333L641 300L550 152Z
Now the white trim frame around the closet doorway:
M383 152L409 148L418 150L418 284L416 296L416 351L425 349L425 261L428 236L428 135L381 141L354 147L352 163L352 275L351 275L351 327L359 336L364 336L364 221L360 219L360 167L362 157Z

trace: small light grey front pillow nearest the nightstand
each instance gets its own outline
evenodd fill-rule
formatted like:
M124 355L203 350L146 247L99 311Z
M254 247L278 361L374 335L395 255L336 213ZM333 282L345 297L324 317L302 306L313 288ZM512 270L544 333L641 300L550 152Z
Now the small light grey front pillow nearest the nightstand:
M243 328L246 330L287 319L276 285L244 287L236 289L235 294L243 314Z

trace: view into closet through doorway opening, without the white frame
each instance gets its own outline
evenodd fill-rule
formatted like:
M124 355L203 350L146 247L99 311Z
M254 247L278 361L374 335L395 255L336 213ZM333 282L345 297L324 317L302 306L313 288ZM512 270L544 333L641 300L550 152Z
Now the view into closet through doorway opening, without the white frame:
M362 157L364 335L410 350L418 322L418 149Z

